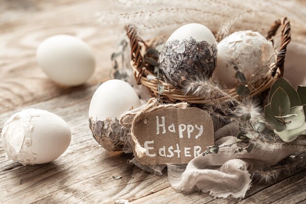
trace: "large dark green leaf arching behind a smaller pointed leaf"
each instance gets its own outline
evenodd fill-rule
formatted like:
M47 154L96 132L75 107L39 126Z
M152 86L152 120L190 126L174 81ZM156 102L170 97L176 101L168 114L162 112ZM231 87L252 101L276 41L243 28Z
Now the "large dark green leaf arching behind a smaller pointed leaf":
M282 77L276 80L272 85L268 98L268 103L271 103L272 95L279 87L281 87L288 95L290 100L290 108L294 106L304 105L301 104L300 97L297 91L295 91L295 89Z

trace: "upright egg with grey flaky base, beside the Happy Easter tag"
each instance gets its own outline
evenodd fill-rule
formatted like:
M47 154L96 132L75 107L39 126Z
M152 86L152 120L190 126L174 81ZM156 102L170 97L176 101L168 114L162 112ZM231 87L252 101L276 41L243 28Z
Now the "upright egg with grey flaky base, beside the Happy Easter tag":
M126 142L119 118L140 106L137 93L128 83L118 79L104 82L94 92L89 105L89 127L93 137L109 151L122 151Z

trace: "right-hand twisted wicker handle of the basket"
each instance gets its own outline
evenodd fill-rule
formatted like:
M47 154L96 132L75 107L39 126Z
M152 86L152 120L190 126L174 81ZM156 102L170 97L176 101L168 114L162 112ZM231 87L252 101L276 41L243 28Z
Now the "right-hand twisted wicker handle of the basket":
M291 26L290 22L288 21L287 17L284 17L282 20L277 20L275 23L271 26L268 35L266 37L267 40L272 39L273 36L275 36L277 30L279 27L282 27L282 33L281 33L281 45L280 45L280 50L279 54L277 55L277 60L276 64L274 66L273 73L275 74L277 69L280 69L280 75L284 76L284 61L285 61L285 54L286 54L286 48L287 45L291 41ZM273 40L271 40L273 43Z

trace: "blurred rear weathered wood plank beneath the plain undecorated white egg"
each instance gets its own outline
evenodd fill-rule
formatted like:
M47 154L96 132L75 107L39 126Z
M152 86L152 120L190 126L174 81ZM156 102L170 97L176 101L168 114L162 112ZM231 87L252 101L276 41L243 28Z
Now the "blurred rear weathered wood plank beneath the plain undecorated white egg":
M0 12L0 113L75 90L56 86L37 65L36 48L52 35L80 37L95 53L96 70L83 87L109 77L110 54L121 32L116 35L117 25L109 24L106 29L106 25L99 24L96 13L107 8L105 3L80 0L22 2L0 3L3 9Z

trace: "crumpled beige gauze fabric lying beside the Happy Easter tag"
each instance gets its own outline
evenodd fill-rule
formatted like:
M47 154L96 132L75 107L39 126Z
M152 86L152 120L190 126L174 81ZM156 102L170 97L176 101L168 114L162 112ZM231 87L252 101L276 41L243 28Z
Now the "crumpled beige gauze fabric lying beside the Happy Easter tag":
M237 123L230 123L215 133L215 145L223 146L236 141ZM305 147L264 144L252 141L255 146L248 153L234 154L238 147L249 144L233 144L219 149L218 154L199 155L188 165L168 164L169 182L177 190L209 192L215 197L243 198L251 186L251 175L256 170L277 164L282 159L305 152Z

